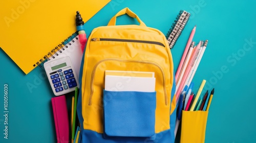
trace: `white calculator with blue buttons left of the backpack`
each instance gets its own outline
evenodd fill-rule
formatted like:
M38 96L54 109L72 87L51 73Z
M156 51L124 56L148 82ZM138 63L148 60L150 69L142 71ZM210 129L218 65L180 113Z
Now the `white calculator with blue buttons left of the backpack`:
M79 88L78 77L69 56L47 61L44 67L55 96L74 91L75 87Z

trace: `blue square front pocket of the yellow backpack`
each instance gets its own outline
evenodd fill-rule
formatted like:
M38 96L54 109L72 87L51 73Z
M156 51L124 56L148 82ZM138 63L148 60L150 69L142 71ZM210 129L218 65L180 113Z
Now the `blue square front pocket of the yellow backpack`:
M156 92L103 91L104 133L119 137L155 135Z

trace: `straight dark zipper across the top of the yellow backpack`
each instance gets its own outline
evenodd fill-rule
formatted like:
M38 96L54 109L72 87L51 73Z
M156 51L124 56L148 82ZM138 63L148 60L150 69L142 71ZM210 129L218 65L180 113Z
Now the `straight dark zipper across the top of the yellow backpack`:
M146 41L146 40L116 39L116 38L92 38L91 41L135 42L135 43L156 44L156 45L160 45L160 46L165 47L165 45L161 42Z

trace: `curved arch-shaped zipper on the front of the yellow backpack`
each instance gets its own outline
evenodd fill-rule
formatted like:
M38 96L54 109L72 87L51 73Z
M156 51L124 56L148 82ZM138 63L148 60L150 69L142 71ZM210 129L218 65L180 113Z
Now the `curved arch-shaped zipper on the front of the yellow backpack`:
M164 90L164 100L165 100L165 105L168 104L167 102L167 93L166 93L166 86L165 86L165 75L164 75L164 71L162 69L162 67L155 63L155 62L151 62L151 61L142 61L142 60L122 60L122 59L115 59L115 58L109 58L109 59L103 59L103 60L100 60L99 62L97 62L93 68L93 71L92 71L92 76L91 76L91 85L90 85L90 88L91 88L91 93L90 93L90 99L89 99L89 104L88 105L92 105L92 97L93 97L93 83L94 83L94 77L95 77L95 72L96 72L96 68L97 66L104 62L104 61L119 61L119 62L139 62L139 63L145 63L145 64L152 64L152 65L155 65L157 66L160 70L161 70L161 73L162 73L162 77L163 77L163 90Z

